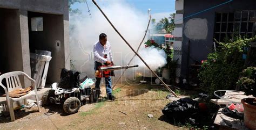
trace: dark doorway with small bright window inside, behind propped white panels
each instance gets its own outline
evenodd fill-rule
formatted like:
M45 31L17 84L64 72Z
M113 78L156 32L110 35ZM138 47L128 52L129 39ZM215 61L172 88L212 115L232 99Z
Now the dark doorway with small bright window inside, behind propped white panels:
M65 68L63 15L29 11L28 24L30 53L35 50L51 52L46 83L58 82L60 69Z

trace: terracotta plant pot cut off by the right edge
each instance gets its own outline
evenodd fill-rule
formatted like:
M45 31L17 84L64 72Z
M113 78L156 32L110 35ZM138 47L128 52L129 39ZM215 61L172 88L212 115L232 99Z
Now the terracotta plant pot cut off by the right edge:
M244 124L250 129L256 129L256 104L253 104L255 98L244 98L241 100L244 105Z

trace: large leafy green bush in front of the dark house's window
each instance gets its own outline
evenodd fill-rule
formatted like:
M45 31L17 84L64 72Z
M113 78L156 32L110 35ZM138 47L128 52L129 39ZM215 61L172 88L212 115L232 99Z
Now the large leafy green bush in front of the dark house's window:
M237 37L219 42L217 52L208 54L199 71L201 89L210 96L216 90L235 89L239 73L245 69L242 59L244 48L249 47L255 39Z

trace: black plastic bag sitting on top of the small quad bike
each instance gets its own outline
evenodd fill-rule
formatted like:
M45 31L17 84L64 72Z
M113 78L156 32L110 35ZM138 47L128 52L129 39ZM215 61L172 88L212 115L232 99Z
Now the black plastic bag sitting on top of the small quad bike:
M79 76L78 71L62 69L58 87L63 89L79 88Z

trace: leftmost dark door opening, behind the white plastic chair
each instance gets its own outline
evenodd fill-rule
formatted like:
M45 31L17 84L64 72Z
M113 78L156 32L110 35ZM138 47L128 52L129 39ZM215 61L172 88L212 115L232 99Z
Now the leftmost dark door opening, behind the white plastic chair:
M23 71L19 11L0 8L0 28L0 73Z

